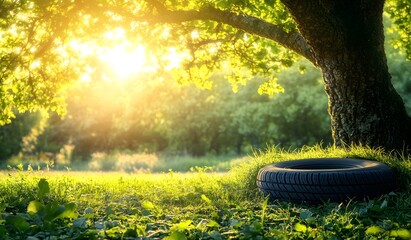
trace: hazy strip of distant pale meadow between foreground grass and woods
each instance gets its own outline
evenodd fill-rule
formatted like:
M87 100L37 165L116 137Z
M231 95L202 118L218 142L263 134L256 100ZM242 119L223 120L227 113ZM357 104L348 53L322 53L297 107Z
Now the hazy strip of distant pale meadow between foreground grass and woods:
M206 155L192 157L188 155L168 156L147 153L113 152L94 153L89 161L53 160L39 156L16 156L0 163L0 169L52 169L70 171L117 171L126 173L164 173L192 172L198 168L207 171L227 172L249 156Z

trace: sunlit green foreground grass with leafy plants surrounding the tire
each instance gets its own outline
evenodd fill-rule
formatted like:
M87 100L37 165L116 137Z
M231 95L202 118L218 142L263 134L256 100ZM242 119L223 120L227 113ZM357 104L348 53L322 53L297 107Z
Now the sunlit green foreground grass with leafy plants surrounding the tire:
M398 191L319 205L268 202L265 164L307 157L375 159ZM0 173L0 239L411 239L411 161L356 148L268 150L230 172Z

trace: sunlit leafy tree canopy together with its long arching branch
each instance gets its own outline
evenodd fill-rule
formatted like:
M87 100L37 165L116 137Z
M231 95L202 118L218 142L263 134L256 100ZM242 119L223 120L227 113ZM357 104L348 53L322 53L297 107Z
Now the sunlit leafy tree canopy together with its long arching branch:
M88 61L93 61L76 46L82 44L93 51L116 45L118 39L107 37L116 29L123 30L128 41L146 46L159 76L173 74L180 82L210 87L210 75L224 68L230 70L227 79L234 89L253 75L269 76L259 93L273 94L282 91L276 73L296 59L304 57L319 66L319 53L312 46L317 41L332 48L336 42L327 37L332 29L340 29L348 43L353 34L362 38L359 32L367 26L356 21L367 19L368 6L373 4L320 0L4 0L0 8L0 123L9 122L16 110L41 108L64 113L62 90L86 71ZM391 31L398 33L393 44L411 59L411 3L387 1L385 7L395 23ZM344 15L350 11L352 16ZM303 26L302 19L307 24L321 24ZM307 31L321 33L322 38L307 37ZM170 60L161 56L170 51L181 54L179 68L167 69Z

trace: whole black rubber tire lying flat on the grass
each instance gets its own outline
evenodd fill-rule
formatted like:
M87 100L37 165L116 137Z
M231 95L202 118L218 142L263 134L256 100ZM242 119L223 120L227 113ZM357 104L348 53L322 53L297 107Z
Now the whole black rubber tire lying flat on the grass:
M396 188L396 178L381 162L315 158L267 165L258 172L257 186L271 200L342 202L389 193Z

